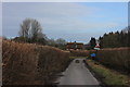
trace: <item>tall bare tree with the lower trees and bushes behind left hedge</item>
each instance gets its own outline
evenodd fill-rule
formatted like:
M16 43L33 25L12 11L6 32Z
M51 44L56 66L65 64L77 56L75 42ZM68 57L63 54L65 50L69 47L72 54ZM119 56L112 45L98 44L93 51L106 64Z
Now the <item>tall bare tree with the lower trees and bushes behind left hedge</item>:
M25 18L21 24L18 37L15 37L13 40L18 42L29 42L29 44L38 44L38 45L48 45L57 47L60 49L65 49L66 40L63 38L58 38L56 40L49 39L42 33L42 26L37 20L34 18Z

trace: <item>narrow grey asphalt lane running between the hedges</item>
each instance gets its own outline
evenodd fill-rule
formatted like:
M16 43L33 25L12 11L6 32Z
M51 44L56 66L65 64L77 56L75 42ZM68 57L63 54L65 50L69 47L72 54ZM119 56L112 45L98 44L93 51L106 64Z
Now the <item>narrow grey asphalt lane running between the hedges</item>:
M76 63L79 60L79 63ZM96 85L100 83L86 67L83 59L75 59L58 79L58 85Z

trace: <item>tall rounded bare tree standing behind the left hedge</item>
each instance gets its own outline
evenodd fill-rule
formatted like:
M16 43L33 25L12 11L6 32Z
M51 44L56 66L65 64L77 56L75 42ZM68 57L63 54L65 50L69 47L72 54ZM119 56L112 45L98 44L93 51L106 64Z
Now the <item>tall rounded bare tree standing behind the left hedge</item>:
M26 18L21 24L20 36L25 39L31 39L37 41L39 38L43 38L42 27L37 20Z

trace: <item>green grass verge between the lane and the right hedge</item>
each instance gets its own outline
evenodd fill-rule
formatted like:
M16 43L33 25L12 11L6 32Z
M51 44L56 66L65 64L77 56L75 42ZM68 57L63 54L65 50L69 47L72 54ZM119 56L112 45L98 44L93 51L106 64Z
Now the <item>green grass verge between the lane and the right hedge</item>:
M89 66L98 73L99 75L103 76L103 82L106 85L127 85L130 86L130 77L114 70L109 70L101 64L92 60L87 60Z

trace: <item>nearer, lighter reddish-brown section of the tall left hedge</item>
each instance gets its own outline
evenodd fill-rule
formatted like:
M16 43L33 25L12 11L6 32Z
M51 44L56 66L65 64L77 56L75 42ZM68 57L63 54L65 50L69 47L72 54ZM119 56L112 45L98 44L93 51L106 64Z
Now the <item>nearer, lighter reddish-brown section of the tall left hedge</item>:
M34 45L2 41L2 72L4 84L36 84L37 52Z

